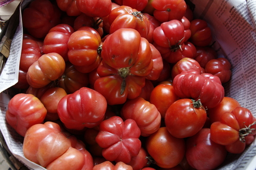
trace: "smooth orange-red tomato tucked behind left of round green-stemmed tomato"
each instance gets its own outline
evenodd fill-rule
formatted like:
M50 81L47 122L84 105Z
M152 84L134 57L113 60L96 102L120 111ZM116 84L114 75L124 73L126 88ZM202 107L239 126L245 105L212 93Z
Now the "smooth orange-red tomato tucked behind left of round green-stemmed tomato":
M168 107L176 100L179 100L179 97L175 94L173 86L160 84L152 90L149 102L157 107L161 117L164 118Z

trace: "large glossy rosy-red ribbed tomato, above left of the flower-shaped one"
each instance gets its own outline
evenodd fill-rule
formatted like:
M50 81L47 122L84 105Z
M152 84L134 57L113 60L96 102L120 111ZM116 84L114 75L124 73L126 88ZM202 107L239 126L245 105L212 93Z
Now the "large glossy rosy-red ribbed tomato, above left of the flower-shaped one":
M104 119L106 110L105 98L99 92L86 87L65 95L57 108L58 116L65 127L74 130L98 126Z

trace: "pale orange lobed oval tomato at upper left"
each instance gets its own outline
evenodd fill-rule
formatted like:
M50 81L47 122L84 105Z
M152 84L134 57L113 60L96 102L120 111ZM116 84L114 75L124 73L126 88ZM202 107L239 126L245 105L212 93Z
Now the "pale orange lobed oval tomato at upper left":
M60 78L64 70L65 61L60 54L43 54L27 70L27 82L34 88L42 88Z

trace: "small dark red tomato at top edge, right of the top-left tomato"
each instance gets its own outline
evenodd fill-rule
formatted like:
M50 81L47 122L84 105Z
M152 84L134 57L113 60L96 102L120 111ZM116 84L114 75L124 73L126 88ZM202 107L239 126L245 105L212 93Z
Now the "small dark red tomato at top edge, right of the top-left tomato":
M65 11L68 16L78 16L81 14L81 11L77 8L76 0L56 0L58 7L61 11Z

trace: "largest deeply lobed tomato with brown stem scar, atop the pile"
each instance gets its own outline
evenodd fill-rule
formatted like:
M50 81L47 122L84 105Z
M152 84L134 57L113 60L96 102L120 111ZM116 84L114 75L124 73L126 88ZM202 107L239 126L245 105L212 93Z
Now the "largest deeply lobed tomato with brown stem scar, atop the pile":
M108 104L123 104L141 94L146 76L154 68L151 46L138 31L120 28L102 44L102 64L94 88ZM155 65L157 66L157 65Z

